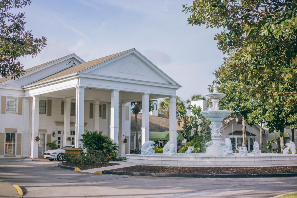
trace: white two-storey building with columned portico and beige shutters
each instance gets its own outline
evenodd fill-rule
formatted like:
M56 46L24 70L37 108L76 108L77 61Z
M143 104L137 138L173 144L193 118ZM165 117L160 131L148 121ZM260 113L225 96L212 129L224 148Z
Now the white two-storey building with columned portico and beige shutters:
M84 130L103 131L119 144L119 156L125 156L130 150L130 103L142 101L145 142L149 99L163 97L170 97L170 140L176 142L180 87L135 49L88 62L70 54L27 69L19 79L0 78L0 158L43 157L46 142L53 140L59 147L79 147Z

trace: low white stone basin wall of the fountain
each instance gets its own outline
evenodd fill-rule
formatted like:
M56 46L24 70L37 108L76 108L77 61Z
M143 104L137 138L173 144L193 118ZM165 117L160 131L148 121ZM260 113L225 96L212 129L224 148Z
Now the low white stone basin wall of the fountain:
M154 155L127 154L127 162L140 164L161 164L161 165L190 165L190 166L232 166L232 167L254 167L254 166L296 166L297 155L261 153L260 156L248 154L239 156L207 155L205 153L192 153L187 156L185 153L175 153L173 156L166 156L162 153Z

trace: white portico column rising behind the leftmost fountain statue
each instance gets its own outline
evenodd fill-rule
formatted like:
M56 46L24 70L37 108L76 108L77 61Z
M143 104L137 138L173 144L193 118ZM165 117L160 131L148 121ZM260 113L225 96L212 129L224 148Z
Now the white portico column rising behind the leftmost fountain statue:
M142 94L141 146L149 141L149 94Z

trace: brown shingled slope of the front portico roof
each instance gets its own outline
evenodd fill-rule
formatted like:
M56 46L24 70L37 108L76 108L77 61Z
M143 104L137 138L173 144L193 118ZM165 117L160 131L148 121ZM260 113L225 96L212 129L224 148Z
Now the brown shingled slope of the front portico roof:
M34 83L31 83L30 85L34 85L34 84L37 84L37 83L41 83L41 82L44 82L44 81L47 81L47 80L52 80L52 79L55 79L55 78L58 78L58 77L62 77L62 76L66 76L66 75L70 75L70 74L74 74L74 73L77 73L77 72L80 72L80 71L83 71L85 69L88 69L92 66L95 66L95 65L98 65L100 63L103 63L105 61L108 61L112 58L115 58L123 53L126 53L130 50L133 50L133 49L129 49L129 50L126 50L126 51L123 51L123 52L120 52L120 53L116 53L116 54L113 54L113 55L110 55L110 56L105 56L105 57L102 57L102 58L98 58L98 59L95 59L93 61L88 61L88 62L85 62L85 63L81 63L81 64L78 64L78 65L74 65L72 67L69 67L67 69L64 69L60 72L57 72L53 75L50 75L48 77L45 77L41 80L38 80Z

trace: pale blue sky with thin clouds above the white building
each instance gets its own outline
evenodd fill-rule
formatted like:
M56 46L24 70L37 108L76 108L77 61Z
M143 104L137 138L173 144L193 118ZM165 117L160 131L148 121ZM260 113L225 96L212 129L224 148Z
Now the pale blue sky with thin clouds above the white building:
M26 28L47 45L19 60L26 69L71 53L91 61L135 48L182 85L182 99L205 96L223 63L214 40L220 30L188 25L186 3L192 1L32 0L17 12L25 12Z

